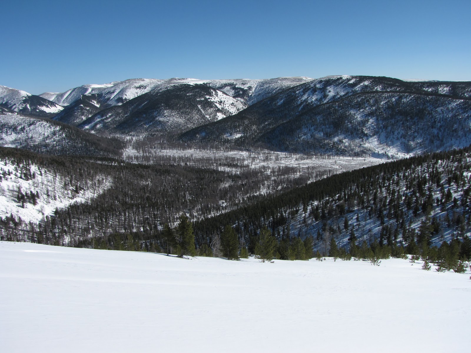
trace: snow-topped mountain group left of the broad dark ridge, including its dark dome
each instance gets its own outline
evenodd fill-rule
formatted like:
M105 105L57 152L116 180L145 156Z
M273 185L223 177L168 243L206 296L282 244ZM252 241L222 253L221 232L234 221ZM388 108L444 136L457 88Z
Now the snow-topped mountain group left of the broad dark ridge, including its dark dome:
M40 96L65 106L64 111L54 117L55 120L75 126L83 123L81 127L89 128L91 131L110 129L110 132L143 133L145 127L146 132L175 130L173 133L176 133L182 131L182 128L187 130L233 115L250 104L309 80L311 79L306 77L268 80L132 79L104 85L84 85L64 93L43 93ZM210 87L213 91L202 94L201 86ZM170 92L164 93L166 90ZM187 96L182 96L181 91L186 92ZM172 98L173 103L169 106L158 106L153 103L155 98L142 97L151 92L152 97L163 94L165 99L168 99L172 93L177 96ZM142 116L135 110L141 110L145 99L149 101L145 104L145 116ZM197 101L192 101L194 99ZM127 107L117 108L130 101L133 102ZM185 105L187 108L180 109L179 105ZM193 105L193 108L188 108L190 105ZM105 111L109 108L115 109ZM109 118L110 114L118 115L120 118ZM129 117L135 123L128 121L126 128L122 129L109 122L110 120L119 122L125 117ZM100 122L101 120L103 121Z

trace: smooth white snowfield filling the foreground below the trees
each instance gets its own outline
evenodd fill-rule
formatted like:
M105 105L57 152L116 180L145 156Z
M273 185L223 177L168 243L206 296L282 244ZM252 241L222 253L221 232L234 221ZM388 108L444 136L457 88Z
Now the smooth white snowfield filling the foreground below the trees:
M2 352L459 352L470 273L0 242Z

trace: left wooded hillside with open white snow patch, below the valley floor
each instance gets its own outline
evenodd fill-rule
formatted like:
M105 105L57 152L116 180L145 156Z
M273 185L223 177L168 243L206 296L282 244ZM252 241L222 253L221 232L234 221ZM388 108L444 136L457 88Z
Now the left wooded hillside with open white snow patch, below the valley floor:
M110 158L38 155L9 148L0 148L0 161L5 164L0 191L3 190L13 207L6 214L8 219L3 219L4 239L45 239L47 243L64 245L109 233L143 232L155 236L165 223L174 224L182 213L195 220L257 200L257 195L272 180L272 176L256 168L241 168L235 173L176 164L172 160L165 165L144 165ZM221 169L225 169L224 166L221 165ZM34 170L36 178L39 178L39 170L41 177L48 177L45 181L39 178L41 180L33 185L25 183L34 179ZM284 173L289 176L292 170L279 171L278 182L284 182L286 189L303 183L302 177L285 178ZM94 189L89 184L82 185L90 175L101 180L102 187ZM275 185L273 192L278 186ZM41 210L41 202L46 209L57 204L52 200L55 201L59 193L65 193L64 200L70 201L66 204L61 201L62 206L52 209L50 214ZM32 200L25 201L22 194L38 196L31 203ZM73 202L75 197L84 194L88 196ZM44 214L39 225L14 216L30 217L32 212ZM31 238L31 234L40 235Z

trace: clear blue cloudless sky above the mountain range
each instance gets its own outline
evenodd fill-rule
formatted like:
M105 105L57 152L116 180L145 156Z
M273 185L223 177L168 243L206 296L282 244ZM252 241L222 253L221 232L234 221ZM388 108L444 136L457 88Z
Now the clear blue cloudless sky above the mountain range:
M0 85L335 74L471 80L471 1L24 1L1 5Z

